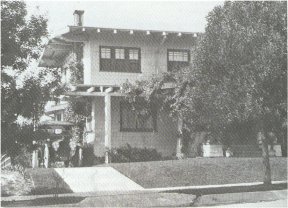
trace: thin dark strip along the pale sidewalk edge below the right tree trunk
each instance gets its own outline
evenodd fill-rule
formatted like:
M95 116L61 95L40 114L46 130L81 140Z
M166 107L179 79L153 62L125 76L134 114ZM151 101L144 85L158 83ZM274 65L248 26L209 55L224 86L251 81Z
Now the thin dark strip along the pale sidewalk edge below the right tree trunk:
M185 190L171 190L165 193L181 193L193 194L196 196L211 195L211 194L226 194L226 193L243 193L243 192L258 192L258 191L272 191L287 189L287 183L272 184L272 185L253 185L253 186L234 186L234 187L217 187L217 188L203 188L203 189L185 189Z

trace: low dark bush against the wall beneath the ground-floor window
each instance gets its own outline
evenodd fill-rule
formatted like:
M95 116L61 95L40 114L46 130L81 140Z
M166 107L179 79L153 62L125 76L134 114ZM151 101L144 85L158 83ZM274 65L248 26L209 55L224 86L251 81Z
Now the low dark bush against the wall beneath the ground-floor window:
M120 148L113 148L109 155L112 163L145 162L162 160L162 156L155 149L131 147L129 144Z

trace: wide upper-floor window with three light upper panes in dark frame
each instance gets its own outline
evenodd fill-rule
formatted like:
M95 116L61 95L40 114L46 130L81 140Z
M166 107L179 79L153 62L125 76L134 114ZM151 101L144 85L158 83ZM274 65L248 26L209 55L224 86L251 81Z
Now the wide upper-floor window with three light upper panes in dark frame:
M100 46L100 71L141 73L140 48Z

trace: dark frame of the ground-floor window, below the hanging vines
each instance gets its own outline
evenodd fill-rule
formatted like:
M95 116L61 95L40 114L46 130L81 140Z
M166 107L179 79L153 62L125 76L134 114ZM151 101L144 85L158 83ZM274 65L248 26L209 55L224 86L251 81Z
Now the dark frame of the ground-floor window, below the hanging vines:
M123 108L124 106L127 107L131 105L127 101L120 101L120 109L119 109L119 117L120 117L120 132L157 132L157 111L155 111L154 116L150 115L151 120L152 120L152 128L136 128L131 127L131 128L125 128L123 127ZM149 118L150 119L150 118Z

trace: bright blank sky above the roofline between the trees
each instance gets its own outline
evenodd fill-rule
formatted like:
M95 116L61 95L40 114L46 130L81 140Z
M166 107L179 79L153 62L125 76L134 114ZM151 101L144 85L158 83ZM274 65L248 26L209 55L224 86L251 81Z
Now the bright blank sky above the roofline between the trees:
M84 10L84 26L204 32L208 12L223 1L27 1L29 14L45 13L51 36L73 25ZM39 8L37 10L36 8Z

